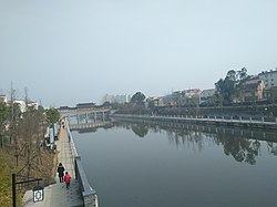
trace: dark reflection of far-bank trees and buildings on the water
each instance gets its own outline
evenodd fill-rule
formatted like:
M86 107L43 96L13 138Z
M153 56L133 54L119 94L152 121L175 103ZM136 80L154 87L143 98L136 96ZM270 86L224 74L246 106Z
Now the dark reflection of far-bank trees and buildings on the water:
M168 142L177 148L189 148L201 153L205 144L222 146L227 156L234 157L236 162L244 162L250 165L256 164L260 155L260 142L267 143L269 154L277 155L277 134L273 131L250 131L225 128L192 124L157 123L152 121L113 120L101 122L91 128L80 128L80 133L96 132L99 127L112 128L123 127L132 131L140 138L145 138L147 133L165 133Z

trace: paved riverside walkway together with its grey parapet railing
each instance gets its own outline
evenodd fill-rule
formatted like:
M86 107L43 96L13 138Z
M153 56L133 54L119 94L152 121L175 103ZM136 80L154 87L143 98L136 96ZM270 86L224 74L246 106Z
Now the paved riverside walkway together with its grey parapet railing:
M62 163L65 172L72 176L70 188L66 189L65 183L60 183L57 174L55 184L44 188L42 201L33 203L32 190L24 194L24 207L99 207L96 192L90 187L66 120L64 126L60 127L55 144L58 163Z

